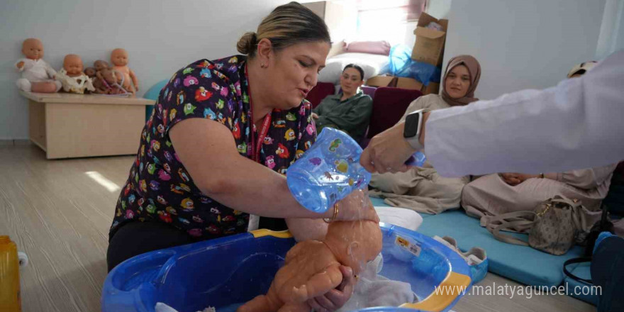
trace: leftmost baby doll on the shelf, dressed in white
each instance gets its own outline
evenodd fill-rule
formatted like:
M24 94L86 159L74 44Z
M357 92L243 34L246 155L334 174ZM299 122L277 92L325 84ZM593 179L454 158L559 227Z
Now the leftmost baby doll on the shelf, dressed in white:
M35 38L28 38L22 43L22 53L26 58L18 60L16 67L22 72L17 80L17 87L23 91L53 93L61 89L62 84L55 81L56 71L43 60L43 43Z

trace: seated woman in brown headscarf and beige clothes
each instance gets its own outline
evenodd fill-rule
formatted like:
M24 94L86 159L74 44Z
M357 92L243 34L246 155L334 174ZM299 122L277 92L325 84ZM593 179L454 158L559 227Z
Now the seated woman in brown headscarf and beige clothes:
M480 77L481 66L477 59L470 55L453 57L442 78L442 95L420 96L410 104L401 121L419 109L463 106L477 101L474 90ZM435 214L459 208L462 188L468 182L469 177L440 177L430 163L425 162L423 167L414 167L407 172L373 174L370 185L377 191L370 194L385 198L386 204L391 206Z

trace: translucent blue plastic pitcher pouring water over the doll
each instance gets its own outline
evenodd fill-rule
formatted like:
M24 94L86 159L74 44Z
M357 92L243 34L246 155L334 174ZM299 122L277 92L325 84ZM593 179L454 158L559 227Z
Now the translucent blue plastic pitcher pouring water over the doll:
M288 169L288 188L301 206L324 213L355 189L364 189L371 174L360 165L362 147L347 133L323 128L309 150Z

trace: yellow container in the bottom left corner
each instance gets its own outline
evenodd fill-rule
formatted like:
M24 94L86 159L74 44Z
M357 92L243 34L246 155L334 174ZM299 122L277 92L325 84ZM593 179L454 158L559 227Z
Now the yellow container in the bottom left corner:
M21 310L17 245L9 236L0 235L0 311Z

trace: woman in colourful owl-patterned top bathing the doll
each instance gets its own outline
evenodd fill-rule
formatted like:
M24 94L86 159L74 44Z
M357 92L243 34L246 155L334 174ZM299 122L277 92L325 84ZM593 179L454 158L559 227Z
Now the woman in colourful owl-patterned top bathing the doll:
M286 219L296 240L323 239L321 218L379 221L363 191L324 214L308 211L284 177L316 140L303 97L330 48L323 20L291 2L237 48L244 55L179 69L160 91L115 208L109 271L143 252L245 233L257 227L251 214ZM355 277L341 272L344 283L310 308L347 301Z

